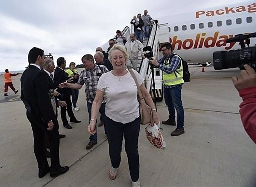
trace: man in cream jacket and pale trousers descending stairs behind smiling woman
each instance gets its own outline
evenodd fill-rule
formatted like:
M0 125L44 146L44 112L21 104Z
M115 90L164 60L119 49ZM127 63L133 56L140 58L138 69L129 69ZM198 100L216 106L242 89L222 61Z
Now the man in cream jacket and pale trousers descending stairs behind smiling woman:
M127 43L125 44L125 49L129 54L129 59L127 59L127 62L126 62L127 68L131 69L131 64L132 64L132 68L137 71L139 51L141 51L142 58L145 58L145 56L142 52L143 44L140 41L135 39L134 33L130 35L130 40L127 41Z

